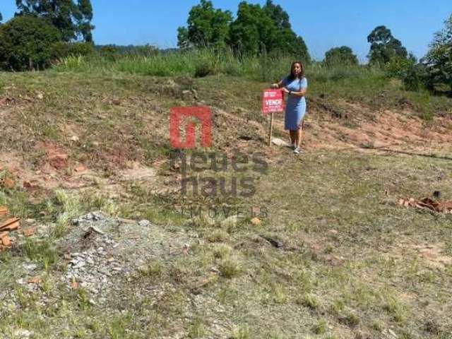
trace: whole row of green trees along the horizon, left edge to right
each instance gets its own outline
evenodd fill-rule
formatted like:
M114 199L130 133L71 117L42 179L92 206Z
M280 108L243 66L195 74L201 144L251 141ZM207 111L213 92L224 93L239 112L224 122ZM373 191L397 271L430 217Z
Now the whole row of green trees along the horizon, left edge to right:
M25 71L44 69L53 59L97 53L107 59L124 54L155 54L144 47L95 46L93 6L90 0L16 0L17 11L1 24L0 68ZM1 8L0 8L1 9ZM299 18L302 20L302 17ZM177 30L178 51L209 48L221 53L230 49L238 58L290 55L309 64L311 57L303 38L292 30L288 13L272 0L261 6L242 1L237 14L214 8L201 0L191 8L187 25ZM367 36L371 66L386 69L408 89L420 86L452 90L452 15L444 29L434 35L429 52L419 61L408 53L391 30L381 25ZM357 66L359 61L347 46L326 52L325 66Z

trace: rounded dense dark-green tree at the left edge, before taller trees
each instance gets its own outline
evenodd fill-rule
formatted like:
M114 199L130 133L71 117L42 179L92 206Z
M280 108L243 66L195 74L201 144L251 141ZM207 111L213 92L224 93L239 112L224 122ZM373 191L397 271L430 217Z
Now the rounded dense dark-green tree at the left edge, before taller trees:
M0 26L2 69L25 71L44 69L52 58L52 46L60 34L44 18L19 16Z

